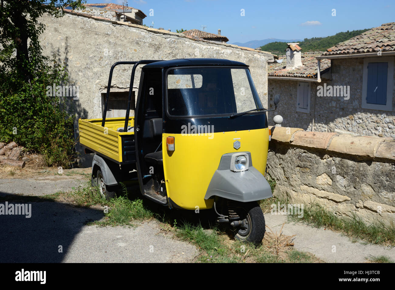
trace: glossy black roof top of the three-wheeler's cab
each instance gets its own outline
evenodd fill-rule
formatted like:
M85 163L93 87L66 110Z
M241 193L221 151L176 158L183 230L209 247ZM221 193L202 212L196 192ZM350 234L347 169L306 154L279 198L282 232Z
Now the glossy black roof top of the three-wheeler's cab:
M149 63L144 66L147 69L168 68L168 67L186 67L186 66L210 66L210 65L226 65L236 67L248 67L245 63L220 58L180 58L171 60L162 60Z

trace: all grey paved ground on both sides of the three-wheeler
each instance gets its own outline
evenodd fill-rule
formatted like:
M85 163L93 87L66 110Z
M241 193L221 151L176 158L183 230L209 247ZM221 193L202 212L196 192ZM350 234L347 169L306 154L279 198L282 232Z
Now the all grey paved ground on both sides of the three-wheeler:
M70 191L84 184L81 175L0 179L0 197L24 203L21 195ZM158 221L134 228L88 226L103 218L101 209L48 201L30 204L30 218L0 214L0 262L193 262L198 255L194 245L162 231ZM395 248L352 242L330 230L289 223L283 215L266 213L265 220L273 232L285 222L283 234L296 234L295 249L325 262L366 262L380 255L395 260Z

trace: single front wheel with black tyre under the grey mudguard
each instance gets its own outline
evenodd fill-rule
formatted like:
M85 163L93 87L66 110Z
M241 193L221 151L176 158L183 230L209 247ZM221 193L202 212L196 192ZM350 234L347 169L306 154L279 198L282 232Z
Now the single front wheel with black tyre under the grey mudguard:
M265 217L258 202L241 203L241 226L236 227L235 239L260 244L265 236Z

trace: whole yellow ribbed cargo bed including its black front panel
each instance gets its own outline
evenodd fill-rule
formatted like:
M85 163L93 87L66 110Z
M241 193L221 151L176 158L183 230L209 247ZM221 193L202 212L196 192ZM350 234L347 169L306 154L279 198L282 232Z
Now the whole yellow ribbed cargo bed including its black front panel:
M79 119L79 143L81 146L109 158L119 164L135 163L134 132L117 132L124 127L125 117L102 119ZM134 126L129 117L128 127Z

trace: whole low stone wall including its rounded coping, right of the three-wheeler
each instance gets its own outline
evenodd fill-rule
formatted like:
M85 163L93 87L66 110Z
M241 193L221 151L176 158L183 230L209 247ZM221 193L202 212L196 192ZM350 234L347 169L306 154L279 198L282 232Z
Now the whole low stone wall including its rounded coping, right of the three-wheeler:
M395 139L272 127L274 195L339 216L395 223Z

